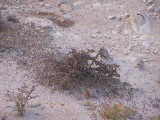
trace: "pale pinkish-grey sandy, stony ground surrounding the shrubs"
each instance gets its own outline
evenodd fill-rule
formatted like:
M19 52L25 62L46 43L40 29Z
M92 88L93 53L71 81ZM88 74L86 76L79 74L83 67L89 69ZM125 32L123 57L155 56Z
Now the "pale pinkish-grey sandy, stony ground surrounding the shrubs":
M98 115L94 116L95 112L87 110L83 104L86 101L100 104L107 102L107 98L78 100L77 95L53 93L37 85L34 94L39 97L29 101L25 116L19 117L15 115L14 103L6 101L5 93L6 90L16 90L23 82L30 86L36 84L33 83L30 66L30 63L36 64L35 54L39 54L39 60L55 48L63 52L72 47L97 52L105 47L113 62L120 65L120 80L140 90L131 100L119 101L136 109L143 120L150 120L150 117L159 114L160 1L76 1L79 0L65 1L72 6L70 11L60 8L54 0L43 1L44 6L41 1L4 4L7 9L1 9L2 18L9 27L0 32L0 45L4 49L0 49L0 113L10 113L9 120L100 120ZM155 10L149 10L152 5ZM45 15L41 14L44 12ZM137 21L133 22L128 15L135 14L146 15L146 21L134 16ZM8 23L10 15L16 16L20 23ZM59 23L59 20L64 23ZM68 26L64 27L63 24ZM21 54L25 54L25 57ZM144 62L142 69L141 66L135 67L140 59ZM134 120L140 118L135 117Z

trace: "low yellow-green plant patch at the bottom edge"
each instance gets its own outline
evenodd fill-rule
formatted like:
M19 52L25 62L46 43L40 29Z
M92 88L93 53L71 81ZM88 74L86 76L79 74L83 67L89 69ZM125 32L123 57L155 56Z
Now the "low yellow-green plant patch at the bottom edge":
M104 119L123 120L129 118L128 114L135 112L133 109L127 109L121 104L115 104L114 106L105 105L99 111L100 116Z

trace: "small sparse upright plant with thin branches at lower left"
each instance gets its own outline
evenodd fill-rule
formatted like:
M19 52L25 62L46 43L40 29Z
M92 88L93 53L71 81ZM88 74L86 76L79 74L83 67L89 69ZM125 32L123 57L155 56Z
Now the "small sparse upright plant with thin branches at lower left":
M17 111L19 115L24 115L25 106L28 101L36 98L37 96L32 96L32 92L35 91L35 86L32 86L31 90L28 90L28 86L23 83L21 88L18 88L18 93L7 91L7 96L10 101L16 103Z

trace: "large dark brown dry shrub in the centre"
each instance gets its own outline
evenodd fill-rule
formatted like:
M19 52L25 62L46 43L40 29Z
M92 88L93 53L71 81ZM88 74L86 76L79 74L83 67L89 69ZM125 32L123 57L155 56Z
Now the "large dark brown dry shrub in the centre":
M91 57L90 54L90 51L72 49L61 57L48 57L36 71L38 82L54 85L57 90L73 90L81 86L106 87L120 77L118 65L104 64L97 61L98 56Z

